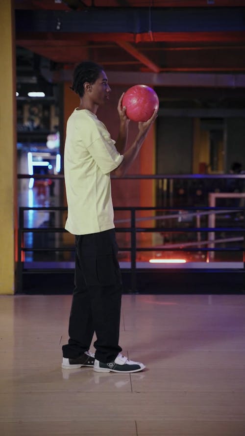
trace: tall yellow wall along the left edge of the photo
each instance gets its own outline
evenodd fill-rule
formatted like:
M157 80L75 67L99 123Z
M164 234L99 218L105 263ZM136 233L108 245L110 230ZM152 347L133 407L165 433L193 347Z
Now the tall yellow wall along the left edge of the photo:
M0 13L0 294L15 291L16 96L13 8L1 2Z

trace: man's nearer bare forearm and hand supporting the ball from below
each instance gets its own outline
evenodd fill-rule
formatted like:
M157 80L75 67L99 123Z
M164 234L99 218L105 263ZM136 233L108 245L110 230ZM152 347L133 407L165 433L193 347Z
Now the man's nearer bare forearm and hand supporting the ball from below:
M135 138L135 141L133 142L131 147L129 147L129 149L123 154L123 161L121 162L121 164L114 171L112 171L111 174L113 176L123 177L124 174L127 172L128 168L131 166L134 159L139 154L142 144L147 137L147 133L151 128L151 125L155 121L156 117L157 111L155 110L152 117L148 121L146 121L145 123L139 123L139 132Z

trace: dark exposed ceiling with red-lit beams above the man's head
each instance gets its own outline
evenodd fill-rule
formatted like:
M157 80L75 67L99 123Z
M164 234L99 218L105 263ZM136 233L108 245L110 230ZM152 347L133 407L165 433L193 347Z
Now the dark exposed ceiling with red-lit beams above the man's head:
M19 76L28 64L31 76L36 54L49 82L90 59L114 83L245 93L245 0L15 0L15 9Z

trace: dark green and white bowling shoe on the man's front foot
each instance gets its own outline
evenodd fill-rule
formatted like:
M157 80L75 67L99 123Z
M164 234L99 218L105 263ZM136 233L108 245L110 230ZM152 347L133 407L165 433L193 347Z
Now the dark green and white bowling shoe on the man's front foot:
M129 372L139 372L145 368L140 362L133 362L122 354L119 354L114 362L103 363L95 359L94 371L96 372L120 372L121 374Z

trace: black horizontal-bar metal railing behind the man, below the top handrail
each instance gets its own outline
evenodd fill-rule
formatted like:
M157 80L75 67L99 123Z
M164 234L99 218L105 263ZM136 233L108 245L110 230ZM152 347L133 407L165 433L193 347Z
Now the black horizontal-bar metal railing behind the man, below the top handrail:
M54 268L29 268L28 262L25 262L25 254L27 252L33 252L33 253L40 253L45 252L47 253L53 253L53 252L74 252L73 246L54 246L51 247L48 245L44 245L42 247L36 247L35 244L27 246L25 244L25 234L26 233L32 233L38 234L38 233L65 233L65 229L63 227L55 227L55 225L52 223L49 227L25 227L25 212L26 211L47 211L49 213L53 212L60 212L64 213L66 212L67 207L62 206L53 206L53 207L20 207L19 208L19 234L18 234L18 292L22 292L23 290L23 275L24 274L35 274L35 273L44 273L44 274L51 274L51 273L66 273L67 269L60 268L60 267L54 267ZM214 235L217 232L223 232L223 233L230 233L233 232L235 234L239 234L241 236L242 246L236 246L236 247L216 247L215 246L215 240L214 238L210 238L205 244L206 247L201 247L198 242L196 242L196 247L181 247L181 244L176 244L176 247L174 249L168 246L162 245L160 248L160 251L162 252L168 252L168 251L178 251L178 252L206 252L206 253L215 253L215 252L242 252L243 253L243 273L245 273L245 226L244 221L242 222L242 225L240 227L234 227L234 226L226 226L226 227L163 227L163 226L155 226L155 227L139 227L137 226L137 212L142 211L153 211L153 212L162 212L162 213L179 213L179 211L185 211L187 213L193 214L215 214L219 213L221 211L232 211L234 210L241 212L244 214L245 219L245 210L243 207L199 207L199 206L193 206L193 207L115 207L115 211L128 211L130 213L129 218L129 226L124 227L116 227L117 232L129 232L130 233L130 246L128 247L121 247L119 248L120 252L129 252L130 253L130 262L129 262L129 268L128 271L130 272L131 278L131 291L135 292L137 289L137 272L140 270L140 268L137 268L137 252L156 252L159 251L158 246L150 246L150 247L140 247L137 245L137 234L138 233L148 233L148 232L159 232L159 233L189 233L189 232L196 232L196 233L205 233L207 235ZM150 219L154 220L155 223L158 220L158 216L154 215L150 217ZM147 217L141 217L141 220L146 220ZM62 221L62 220L61 220ZM121 220L120 220L121 221ZM127 220L125 220L127 221ZM140 222L140 221L139 221ZM179 246L178 246L179 245ZM55 262L54 262L55 263ZM57 262L57 265L59 262ZM73 268L70 269L71 272L73 272Z

